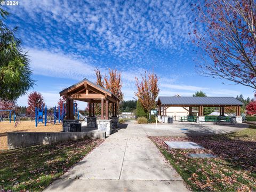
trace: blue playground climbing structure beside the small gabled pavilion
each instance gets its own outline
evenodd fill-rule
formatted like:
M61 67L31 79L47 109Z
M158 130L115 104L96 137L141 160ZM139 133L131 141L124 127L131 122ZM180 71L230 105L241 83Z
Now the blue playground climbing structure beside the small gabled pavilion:
M62 105L62 111L60 111L60 106L56 107L47 107L42 106L41 108L36 107L35 108L35 123L36 127L38 123L44 123L44 126L46 126L46 123L54 123L56 124L56 121L62 122L63 119L65 119L66 116L66 103L63 103ZM77 113L77 103L74 103L74 115ZM47 116L51 118L49 121L47 119ZM79 112L78 112L78 119L79 119ZM53 121L52 121L53 120Z

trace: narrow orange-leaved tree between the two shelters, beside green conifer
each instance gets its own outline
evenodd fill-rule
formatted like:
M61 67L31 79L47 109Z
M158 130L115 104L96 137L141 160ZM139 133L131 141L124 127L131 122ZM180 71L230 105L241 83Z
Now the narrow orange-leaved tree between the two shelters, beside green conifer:
M159 93L158 77L154 73L145 71L145 74L141 74L141 81L135 77L137 92L135 95L138 97L139 102L144 108L146 113L150 113L150 110L155 108L156 98Z

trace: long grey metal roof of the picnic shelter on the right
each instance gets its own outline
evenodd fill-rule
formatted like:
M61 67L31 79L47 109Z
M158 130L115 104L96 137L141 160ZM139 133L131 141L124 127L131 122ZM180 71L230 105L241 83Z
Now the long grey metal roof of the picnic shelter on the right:
M244 105L234 97L158 97L157 103L158 105Z

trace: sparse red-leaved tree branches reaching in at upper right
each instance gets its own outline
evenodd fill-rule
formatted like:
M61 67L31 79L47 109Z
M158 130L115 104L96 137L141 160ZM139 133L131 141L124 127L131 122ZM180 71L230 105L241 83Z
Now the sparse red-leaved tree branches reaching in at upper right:
M199 51L199 72L256 89L255 1L206 0L195 7L204 27L197 25L193 42L210 57Z

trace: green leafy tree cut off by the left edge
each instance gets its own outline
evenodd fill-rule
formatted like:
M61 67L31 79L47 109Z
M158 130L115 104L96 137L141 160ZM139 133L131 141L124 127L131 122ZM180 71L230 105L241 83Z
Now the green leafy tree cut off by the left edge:
M16 100L33 85L29 59L14 36L17 28L8 28L4 20L9 13L0 5L0 99Z

